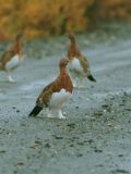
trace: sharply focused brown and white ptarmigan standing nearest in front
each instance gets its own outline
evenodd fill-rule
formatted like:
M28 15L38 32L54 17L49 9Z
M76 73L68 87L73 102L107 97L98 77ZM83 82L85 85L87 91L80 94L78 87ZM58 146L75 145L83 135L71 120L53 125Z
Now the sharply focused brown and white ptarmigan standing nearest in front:
M47 109L47 116L51 117L50 110L55 109L58 111L59 119L66 119L62 114L62 108L71 99L73 91L73 84L66 69L68 62L67 58L61 59L59 76L44 88L28 116L36 116L43 109Z

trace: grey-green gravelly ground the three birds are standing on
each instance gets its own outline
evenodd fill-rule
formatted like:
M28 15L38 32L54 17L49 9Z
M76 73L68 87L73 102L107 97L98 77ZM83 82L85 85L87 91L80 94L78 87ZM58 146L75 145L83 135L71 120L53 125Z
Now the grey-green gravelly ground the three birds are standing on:
M97 83L74 90L67 120L27 115L57 76L68 39L27 42L16 83L0 74L0 174L131 173L131 29L106 30L78 36Z

